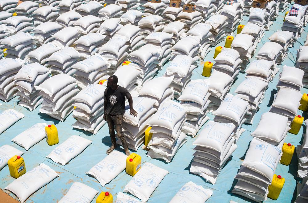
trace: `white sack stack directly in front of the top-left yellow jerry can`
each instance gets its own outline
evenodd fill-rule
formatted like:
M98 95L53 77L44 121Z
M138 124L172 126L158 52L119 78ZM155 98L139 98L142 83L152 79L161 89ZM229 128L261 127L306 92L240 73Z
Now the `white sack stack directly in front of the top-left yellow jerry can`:
M33 18L26 16L12 16L7 18L4 22L6 25L6 32L16 34L18 32L28 33L33 30Z

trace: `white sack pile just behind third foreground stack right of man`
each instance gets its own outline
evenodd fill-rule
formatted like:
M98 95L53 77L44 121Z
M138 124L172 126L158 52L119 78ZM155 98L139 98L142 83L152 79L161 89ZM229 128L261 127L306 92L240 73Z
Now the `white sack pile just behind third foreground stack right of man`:
M233 137L235 138L235 142L237 142L241 134L245 131L241 126L247 120L246 114L248 110L249 103L247 101L228 93L221 102L221 105L214 112L214 121L233 123L235 125Z

